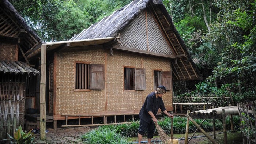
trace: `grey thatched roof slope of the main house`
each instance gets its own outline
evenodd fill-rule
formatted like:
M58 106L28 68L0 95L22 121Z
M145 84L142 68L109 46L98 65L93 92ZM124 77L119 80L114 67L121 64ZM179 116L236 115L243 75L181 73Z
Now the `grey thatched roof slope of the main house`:
M130 4L114 11L110 16L91 25L88 29L84 29L70 40L116 37L117 32L127 26L150 3L158 5L162 4L162 0L133 0Z

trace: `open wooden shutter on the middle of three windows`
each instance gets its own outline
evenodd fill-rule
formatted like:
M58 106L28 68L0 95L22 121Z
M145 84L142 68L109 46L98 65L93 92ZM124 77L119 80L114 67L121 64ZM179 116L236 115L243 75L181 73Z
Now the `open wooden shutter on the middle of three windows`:
M135 90L146 90L146 71L142 68L135 69Z

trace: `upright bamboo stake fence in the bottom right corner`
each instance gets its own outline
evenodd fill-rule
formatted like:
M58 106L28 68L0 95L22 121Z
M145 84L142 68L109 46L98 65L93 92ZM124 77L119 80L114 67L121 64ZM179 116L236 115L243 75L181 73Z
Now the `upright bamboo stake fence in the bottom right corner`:
M256 143L256 101L250 103L238 103L240 115L240 128L244 144Z

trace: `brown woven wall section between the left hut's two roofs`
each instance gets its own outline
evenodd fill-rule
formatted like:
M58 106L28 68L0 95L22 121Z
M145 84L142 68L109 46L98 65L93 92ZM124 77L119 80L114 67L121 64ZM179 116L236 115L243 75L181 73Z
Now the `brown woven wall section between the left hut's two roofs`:
M0 43L0 59L18 61L18 48L16 44Z

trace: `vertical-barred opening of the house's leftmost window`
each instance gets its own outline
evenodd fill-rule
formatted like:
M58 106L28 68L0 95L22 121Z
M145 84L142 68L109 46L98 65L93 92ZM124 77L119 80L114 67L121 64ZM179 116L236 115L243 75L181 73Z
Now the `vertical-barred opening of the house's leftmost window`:
M88 90L90 78L90 64L76 63L75 89Z

